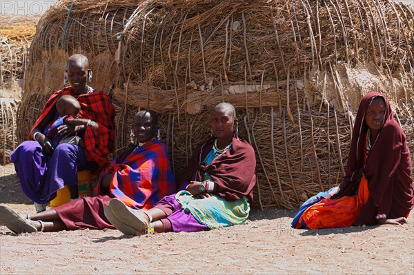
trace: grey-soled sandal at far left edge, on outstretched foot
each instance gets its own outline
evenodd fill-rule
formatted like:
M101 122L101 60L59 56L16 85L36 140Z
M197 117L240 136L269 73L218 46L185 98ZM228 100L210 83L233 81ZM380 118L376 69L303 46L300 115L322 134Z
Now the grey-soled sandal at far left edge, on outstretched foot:
M6 205L0 205L0 221L15 234L37 232L36 227L29 220L21 218L19 214Z

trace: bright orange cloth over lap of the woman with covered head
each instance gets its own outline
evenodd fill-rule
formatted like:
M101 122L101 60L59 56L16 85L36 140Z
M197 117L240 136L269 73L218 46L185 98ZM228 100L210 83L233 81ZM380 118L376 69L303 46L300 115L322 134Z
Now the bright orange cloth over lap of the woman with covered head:
M362 177L355 196L343 196L336 200L323 199L309 207L299 218L309 229L337 228L353 225L369 198L368 183Z

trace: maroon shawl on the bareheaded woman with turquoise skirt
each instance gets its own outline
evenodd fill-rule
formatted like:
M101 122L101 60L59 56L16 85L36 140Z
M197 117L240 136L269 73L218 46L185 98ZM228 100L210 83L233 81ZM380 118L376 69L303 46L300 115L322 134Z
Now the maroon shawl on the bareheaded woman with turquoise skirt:
M233 136L229 150L214 159L210 165L203 163L206 155L213 148L214 139L197 147L195 154L188 160L188 167L181 176L181 183L195 180L202 181L208 173L216 184L215 195L226 201L237 201L243 196L253 203L253 187L256 184L255 150L247 141Z

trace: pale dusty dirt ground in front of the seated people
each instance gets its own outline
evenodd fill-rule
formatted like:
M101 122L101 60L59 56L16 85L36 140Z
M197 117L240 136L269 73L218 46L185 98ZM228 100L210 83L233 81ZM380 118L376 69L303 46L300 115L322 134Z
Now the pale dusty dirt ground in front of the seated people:
M12 165L0 203L32 213ZM403 226L293 230L295 211L253 210L246 225L124 236L117 230L12 234L0 227L0 274L414 274L414 214Z

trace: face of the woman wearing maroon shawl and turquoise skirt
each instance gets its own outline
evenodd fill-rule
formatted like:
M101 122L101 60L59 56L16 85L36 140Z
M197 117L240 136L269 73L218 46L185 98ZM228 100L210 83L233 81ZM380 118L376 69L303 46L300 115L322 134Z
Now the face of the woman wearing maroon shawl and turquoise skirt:
M211 115L211 129L217 139L229 139L233 136L235 119L227 110L217 109Z

